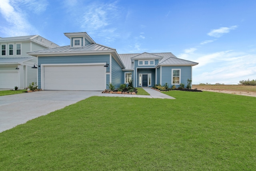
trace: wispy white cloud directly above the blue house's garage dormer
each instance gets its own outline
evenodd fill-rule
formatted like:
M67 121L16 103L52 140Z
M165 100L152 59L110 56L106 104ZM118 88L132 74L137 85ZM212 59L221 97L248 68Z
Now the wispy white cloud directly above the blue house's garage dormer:
M77 12L78 7L83 8L83 12L85 12ZM86 3L86 6L77 3L76 6L72 6L74 9L72 11L68 7L66 8L71 12L72 18L77 18L78 27L85 30L90 36L98 38L101 44L110 44L120 37L116 24L120 18L117 2L108 4L93 2L92 4Z

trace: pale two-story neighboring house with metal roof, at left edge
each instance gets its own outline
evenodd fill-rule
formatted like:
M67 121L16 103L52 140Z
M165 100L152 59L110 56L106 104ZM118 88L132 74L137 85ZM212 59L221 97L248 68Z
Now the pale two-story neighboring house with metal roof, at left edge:
M26 52L56 47L39 35L0 38L0 88L24 89L37 82L37 70L31 67L38 64L38 59Z

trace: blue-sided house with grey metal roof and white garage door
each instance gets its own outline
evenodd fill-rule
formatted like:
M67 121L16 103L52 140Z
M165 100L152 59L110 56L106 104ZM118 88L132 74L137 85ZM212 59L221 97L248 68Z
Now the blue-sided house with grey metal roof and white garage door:
M64 33L70 45L36 50L38 87L44 90L108 89L128 84L153 87L155 84L187 84L196 62L179 59L172 53L118 54L116 49L97 44L86 32Z

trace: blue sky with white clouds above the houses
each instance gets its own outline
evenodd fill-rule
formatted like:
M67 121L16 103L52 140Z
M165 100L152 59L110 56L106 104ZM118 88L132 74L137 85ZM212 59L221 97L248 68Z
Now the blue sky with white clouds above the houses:
M255 0L1 0L0 37L38 34L66 46L66 32L119 54L198 62L193 84L256 79Z

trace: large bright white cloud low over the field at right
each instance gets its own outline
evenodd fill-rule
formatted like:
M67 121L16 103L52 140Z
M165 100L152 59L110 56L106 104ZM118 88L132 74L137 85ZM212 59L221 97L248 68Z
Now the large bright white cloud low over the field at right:
M256 54L225 51L197 58L193 67L193 84L238 84L240 80L253 80L256 76Z

